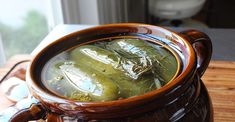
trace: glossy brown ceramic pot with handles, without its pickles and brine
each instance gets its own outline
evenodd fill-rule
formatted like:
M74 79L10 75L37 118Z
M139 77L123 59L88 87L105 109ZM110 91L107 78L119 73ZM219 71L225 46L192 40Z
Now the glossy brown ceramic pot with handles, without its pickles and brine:
M173 50L181 63L179 74L158 90L109 102L75 102L57 96L43 86L42 68L56 54L75 45L117 37L145 38ZM128 23L71 33L48 45L32 60L27 72L27 84L36 102L31 108L16 113L11 121L211 122L211 99L200 79L209 64L211 53L209 37L196 30L176 33L158 26Z

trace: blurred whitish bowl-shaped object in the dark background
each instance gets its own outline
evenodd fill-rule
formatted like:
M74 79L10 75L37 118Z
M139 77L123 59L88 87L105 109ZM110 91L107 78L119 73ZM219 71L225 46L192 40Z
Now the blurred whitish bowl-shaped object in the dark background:
M162 19L184 19L197 14L206 0L150 0L150 13Z

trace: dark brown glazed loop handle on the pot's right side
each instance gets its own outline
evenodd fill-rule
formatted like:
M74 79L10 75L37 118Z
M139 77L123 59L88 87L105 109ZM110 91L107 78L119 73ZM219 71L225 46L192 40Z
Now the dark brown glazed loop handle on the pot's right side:
M211 40L205 33L197 30L186 30L181 32L181 34L188 39L197 54L197 72L201 77L211 59Z

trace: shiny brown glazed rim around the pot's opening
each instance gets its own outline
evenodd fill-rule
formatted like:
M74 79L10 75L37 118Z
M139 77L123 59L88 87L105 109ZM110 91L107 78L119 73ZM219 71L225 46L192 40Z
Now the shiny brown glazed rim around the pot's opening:
M72 35L76 35L78 33L86 33L87 31L91 31L91 30L99 30L102 28L111 28L111 27L150 27L150 28L157 28L160 29L159 31L166 31L166 32L170 32L171 34L173 34L174 36L176 36L177 38L179 38L181 41L184 42L187 51L189 52L189 61L188 63L185 65L185 69L180 73L179 76L177 76L175 79L173 79L170 83L164 85L163 87L161 87L160 89L157 90L153 90L151 92L145 93L143 95L140 96L135 96L135 97L131 97L131 98L126 98L126 99L121 99L121 100L115 100L115 101L107 101L107 102L78 102L78 101L74 101L74 100L70 100L70 99L65 99L63 97L59 97L57 95L51 94L51 93L47 93L45 92L45 90L43 88L41 88L38 84L36 84L35 79L33 79L33 67L35 64L35 62L40 58L41 55L43 55L44 51L46 50L46 48L60 42L60 41L64 41L67 38L71 37ZM154 26L154 25L149 25L149 24L140 24L140 23L118 23L118 24L107 24L107 25L99 25L96 27L91 27L88 29L84 29L84 30L80 30L80 31L76 31L73 33L70 33L66 36L63 36L55 41L53 41L52 43L50 43L49 45L47 45L45 48L43 48L39 53L36 54L36 56L32 59L32 62L30 63L30 66L27 70L27 83L29 84L29 88L31 90L31 93L33 94L34 97L36 97L37 99L41 100L41 101L47 101L49 103L64 103L64 104L73 104L73 105L79 105L79 106L83 106L83 107L89 107L89 106L93 106L93 107L101 107L101 106L121 106L121 105L129 105L131 103L144 103L153 99L156 99L158 97L161 97L162 95L169 93L173 90L173 88L177 87L180 84L184 84L184 78L188 77L189 74L192 73L192 71L195 70L195 63L196 62L196 55L195 52L193 50L193 47L191 46L191 44L187 41L187 39L185 39L184 37L180 36L180 34L177 34L176 32L163 28L163 27L159 27L159 26ZM40 81L41 82L41 81Z

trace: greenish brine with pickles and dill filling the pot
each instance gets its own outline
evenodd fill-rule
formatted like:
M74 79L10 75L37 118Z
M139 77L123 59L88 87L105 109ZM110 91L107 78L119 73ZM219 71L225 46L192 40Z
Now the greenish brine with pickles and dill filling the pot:
M81 102L113 101L161 88L178 72L172 51L141 39L77 46L53 57L42 80L54 94Z

